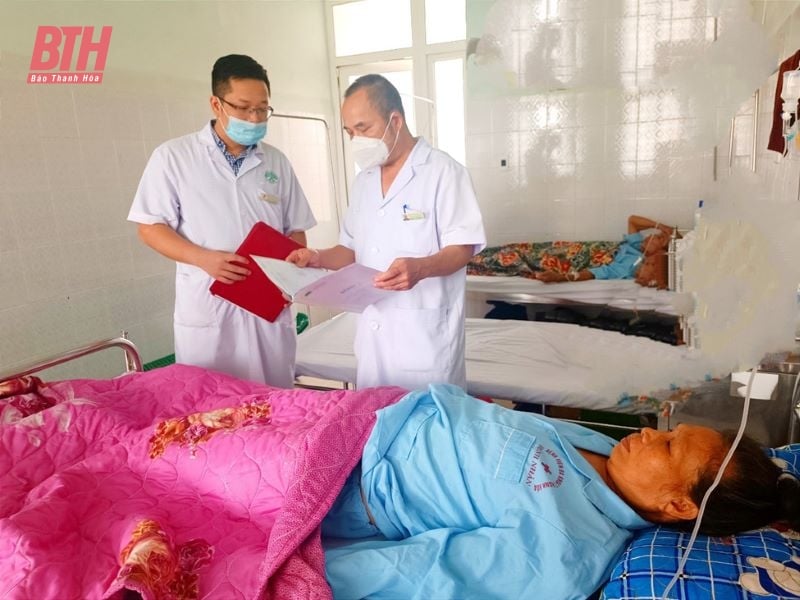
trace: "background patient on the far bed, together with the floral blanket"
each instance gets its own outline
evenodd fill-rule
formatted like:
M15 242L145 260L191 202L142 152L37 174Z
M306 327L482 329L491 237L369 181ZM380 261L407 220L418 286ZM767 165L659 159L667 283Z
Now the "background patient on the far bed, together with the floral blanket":
M657 230L649 236L643 231ZM673 229L647 217L628 218L621 242L530 242L486 248L467 265L468 275L503 275L545 283L589 279L635 279L667 287L667 246Z

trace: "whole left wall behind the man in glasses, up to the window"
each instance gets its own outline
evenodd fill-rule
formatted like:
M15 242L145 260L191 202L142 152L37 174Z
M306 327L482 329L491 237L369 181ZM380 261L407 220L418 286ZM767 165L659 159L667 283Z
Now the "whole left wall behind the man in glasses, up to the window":
M30 3L3 7L16 7L15 20L0 11L0 372L123 329L145 362L172 352L174 264L141 244L126 216L155 146L198 130L211 116L205 54L265 56L281 112L331 120L321 2L239 3L233 13L236 3L189 4L164 3L157 22L148 3L34 6L48 13L44 5L51 5L64 20L114 25L116 55L110 54L101 85L27 84L35 26L45 16L31 16ZM221 12L230 21L228 37L238 38L235 47L220 32ZM187 19L195 36L162 36L157 49L137 45L152 31L124 26L138 20L184 31ZM300 30L316 35L309 40ZM24 38L16 46L15 36ZM195 46L204 54L185 53ZM165 55L175 65L169 74ZM294 55L294 63L270 68L269 59L279 55ZM316 210L330 213L325 136L302 121L276 119L267 141L285 149ZM318 215L323 225L312 239L328 235L325 214ZM108 376L121 364L121 353L112 351L48 376Z

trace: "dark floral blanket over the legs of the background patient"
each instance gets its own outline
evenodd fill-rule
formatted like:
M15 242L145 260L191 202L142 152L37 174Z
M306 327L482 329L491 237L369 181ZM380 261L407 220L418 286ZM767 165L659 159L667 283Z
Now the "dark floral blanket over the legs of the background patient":
M569 273L608 265L621 242L524 242L485 248L467 264L468 275L534 279L539 271Z

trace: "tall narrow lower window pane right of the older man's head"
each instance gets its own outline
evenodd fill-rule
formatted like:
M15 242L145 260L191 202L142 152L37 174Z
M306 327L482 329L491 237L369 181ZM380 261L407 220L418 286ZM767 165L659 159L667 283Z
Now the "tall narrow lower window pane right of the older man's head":
M433 65L433 77L436 86L436 145L463 165L463 59L437 60Z

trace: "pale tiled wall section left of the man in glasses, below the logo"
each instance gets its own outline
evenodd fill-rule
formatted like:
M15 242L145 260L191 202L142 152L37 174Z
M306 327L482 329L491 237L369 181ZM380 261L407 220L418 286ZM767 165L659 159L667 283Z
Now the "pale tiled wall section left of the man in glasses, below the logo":
M174 267L138 242L126 216L152 149L206 120L204 86L182 82L177 95L137 93L131 80L33 86L23 57L3 65L0 365L122 329L145 360L169 354ZM120 361L97 355L81 374Z

